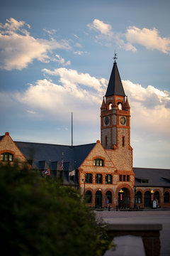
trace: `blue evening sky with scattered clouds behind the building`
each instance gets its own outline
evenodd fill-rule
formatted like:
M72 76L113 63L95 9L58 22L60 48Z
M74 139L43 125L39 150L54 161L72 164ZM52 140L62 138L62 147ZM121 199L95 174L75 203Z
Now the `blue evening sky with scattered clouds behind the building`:
M1 0L0 135L100 139L113 57L131 111L133 166L170 169L169 0Z

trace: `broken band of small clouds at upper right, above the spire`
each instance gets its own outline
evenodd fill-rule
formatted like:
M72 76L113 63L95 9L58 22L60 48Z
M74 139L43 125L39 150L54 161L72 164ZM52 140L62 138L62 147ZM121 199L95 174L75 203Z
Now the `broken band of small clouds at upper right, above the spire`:
M159 50L162 53L170 53L170 38L162 38L157 28L137 28L129 26L125 33L115 33L110 24L104 23L98 19L87 24L90 30L98 32L96 42L106 46L112 46L116 43L119 48L125 50L137 51L134 45L145 46L149 50ZM109 43L108 43L109 41Z

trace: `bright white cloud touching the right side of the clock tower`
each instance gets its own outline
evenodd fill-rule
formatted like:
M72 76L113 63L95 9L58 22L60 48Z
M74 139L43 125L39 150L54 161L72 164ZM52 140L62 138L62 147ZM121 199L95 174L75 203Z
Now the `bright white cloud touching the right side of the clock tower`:
M123 81L131 107L132 127L169 134L170 92L161 91L151 85L147 88Z

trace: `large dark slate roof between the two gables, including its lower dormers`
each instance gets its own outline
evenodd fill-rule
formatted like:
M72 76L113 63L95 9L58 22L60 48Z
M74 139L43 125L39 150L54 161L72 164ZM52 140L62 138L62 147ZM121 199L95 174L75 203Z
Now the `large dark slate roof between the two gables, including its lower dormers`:
M75 176L69 176L69 172L78 169L81 163L86 159L95 143L79 146L66 146L57 144L42 144L33 142L15 142L33 169L41 171L50 168L52 177L64 176L64 185L72 183L73 186L79 186L78 173ZM63 173L61 171L63 155Z

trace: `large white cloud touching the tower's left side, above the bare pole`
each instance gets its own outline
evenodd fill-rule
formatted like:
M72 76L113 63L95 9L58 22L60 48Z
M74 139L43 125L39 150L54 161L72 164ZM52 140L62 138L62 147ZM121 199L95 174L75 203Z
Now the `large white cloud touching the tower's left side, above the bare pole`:
M67 68L42 71L47 75L59 76L59 82L37 80L24 93L15 95L18 102L26 105L27 109L38 112L38 115L43 113L60 119L60 122L67 118L71 110L77 122L98 122L96 111L99 110L106 91L106 79L97 79L88 73L78 73L77 70Z

